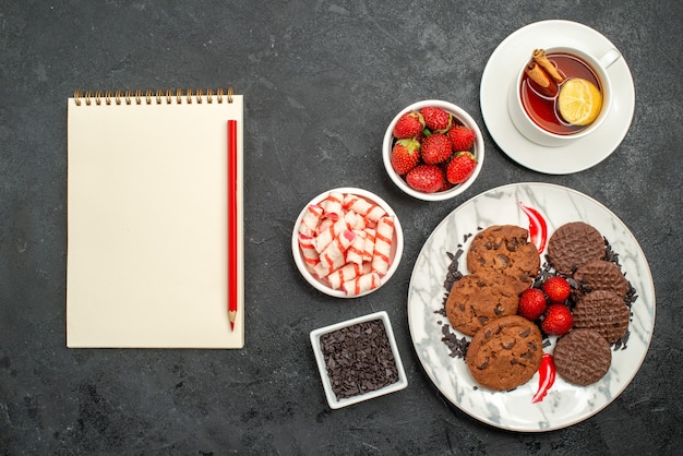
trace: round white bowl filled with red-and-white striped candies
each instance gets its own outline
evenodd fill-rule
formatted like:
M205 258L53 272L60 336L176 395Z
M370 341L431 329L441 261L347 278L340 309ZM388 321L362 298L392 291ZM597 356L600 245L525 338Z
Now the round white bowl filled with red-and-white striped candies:
M303 206L291 236L295 263L305 280L336 298L358 298L394 275L404 249L396 213L367 190L344 187Z

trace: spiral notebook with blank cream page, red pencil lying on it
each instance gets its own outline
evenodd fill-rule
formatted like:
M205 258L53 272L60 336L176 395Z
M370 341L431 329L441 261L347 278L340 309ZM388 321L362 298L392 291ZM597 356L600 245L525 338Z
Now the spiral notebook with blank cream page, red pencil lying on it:
M68 347L243 347L242 125L232 89L69 98Z

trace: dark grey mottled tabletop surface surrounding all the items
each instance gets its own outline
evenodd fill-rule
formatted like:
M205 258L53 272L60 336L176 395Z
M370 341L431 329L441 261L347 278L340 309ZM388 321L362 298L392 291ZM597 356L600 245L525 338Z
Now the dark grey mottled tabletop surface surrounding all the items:
M547 19L596 28L628 62L636 108L616 152L586 171L546 176L508 159L484 129L483 170L465 194L424 203L399 192L380 156L393 116L440 98L483 129L489 56ZM678 0L0 1L0 449L680 453L682 34ZM244 349L67 349L67 98L227 86L245 97ZM595 417L539 434L501 431L450 406L415 355L406 315L412 265L439 221L476 194L523 181L570 187L610 207L639 240L657 292L655 336L631 385ZM342 185L382 195L406 236L390 285L354 300L315 291L290 253L302 205ZM378 310L390 313L409 386L331 410L309 332Z

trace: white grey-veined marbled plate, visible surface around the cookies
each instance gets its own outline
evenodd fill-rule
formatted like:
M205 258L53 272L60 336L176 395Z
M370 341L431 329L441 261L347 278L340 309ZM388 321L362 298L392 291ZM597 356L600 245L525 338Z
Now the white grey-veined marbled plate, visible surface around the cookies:
M455 253L466 235L477 228L512 224L529 226L518 202L535 207L548 224L548 238L561 225L583 220L597 228L619 253L622 271L637 291L633 303L626 349L612 351L610 371L589 386L574 386L556 377L546 398L531 404L539 375L512 392L479 387L462 358L451 358L441 340L447 319L434 313L443 308L443 286ZM467 252L469 241L462 249ZM467 274L465 256L459 271ZM491 425L524 432L564 428L607 407L631 383L650 344L655 326L655 286L647 260L628 228L607 207L574 190L548 183L515 183L481 193L453 211L434 229L416 261L408 288L408 323L416 352L439 391L455 406ZM457 332L453 333L463 337ZM551 352L552 347L546 349Z

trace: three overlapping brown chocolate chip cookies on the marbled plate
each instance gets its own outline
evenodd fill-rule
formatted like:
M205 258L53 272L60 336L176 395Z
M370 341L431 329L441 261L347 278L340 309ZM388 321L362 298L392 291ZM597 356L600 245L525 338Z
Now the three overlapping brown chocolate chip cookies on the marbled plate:
M528 382L541 363L541 332L517 315L519 293L531 286L540 267L528 237L528 230L514 225L477 233L467 253L470 274L453 285L446 301L453 328L474 336L467 365L490 389L508 391Z

